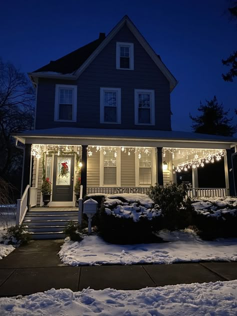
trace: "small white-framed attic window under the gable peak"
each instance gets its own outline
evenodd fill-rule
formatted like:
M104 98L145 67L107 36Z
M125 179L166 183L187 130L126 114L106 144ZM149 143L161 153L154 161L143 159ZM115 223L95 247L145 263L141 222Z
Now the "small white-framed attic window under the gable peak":
M133 43L116 42L116 69L134 69Z

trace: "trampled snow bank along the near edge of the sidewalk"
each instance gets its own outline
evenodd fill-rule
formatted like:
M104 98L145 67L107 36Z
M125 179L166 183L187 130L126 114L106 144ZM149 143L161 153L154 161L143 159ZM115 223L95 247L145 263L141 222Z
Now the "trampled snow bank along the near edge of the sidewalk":
M52 288L24 297L0 298L0 315L236 316L236 297L237 280L126 291Z

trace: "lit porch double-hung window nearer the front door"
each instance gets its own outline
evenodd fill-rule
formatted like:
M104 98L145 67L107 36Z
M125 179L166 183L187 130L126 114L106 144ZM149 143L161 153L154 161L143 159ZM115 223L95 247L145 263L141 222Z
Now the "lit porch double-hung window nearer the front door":
M120 148L100 151L100 186L120 186Z

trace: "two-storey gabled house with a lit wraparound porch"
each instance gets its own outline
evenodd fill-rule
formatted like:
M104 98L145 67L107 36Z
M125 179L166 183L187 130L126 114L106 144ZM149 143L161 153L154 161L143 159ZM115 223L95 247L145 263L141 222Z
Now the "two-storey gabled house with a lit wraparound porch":
M49 206L75 205L79 173L82 195L146 192L190 168L190 196L235 194L237 140L171 130L170 93L177 80L128 16L106 36L99 33L28 75L37 91L34 129L14 137L25 144L22 189L30 187L31 207L43 204L44 170L52 188ZM225 187L198 188L197 169L219 159Z

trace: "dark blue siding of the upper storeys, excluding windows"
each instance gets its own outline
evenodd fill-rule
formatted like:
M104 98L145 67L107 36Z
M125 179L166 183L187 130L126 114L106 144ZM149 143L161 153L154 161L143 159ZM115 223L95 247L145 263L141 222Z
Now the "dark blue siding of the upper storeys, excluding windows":
M116 42L134 45L134 70L116 69ZM77 121L55 122L55 84L77 85ZM121 88L121 124L100 123L100 87ZM155 125L134 124L134 89L153 89ZM169 82L126 25L96 56L76 81L39 79L36 129L58 126L170 130Z

